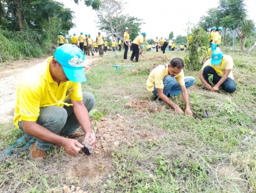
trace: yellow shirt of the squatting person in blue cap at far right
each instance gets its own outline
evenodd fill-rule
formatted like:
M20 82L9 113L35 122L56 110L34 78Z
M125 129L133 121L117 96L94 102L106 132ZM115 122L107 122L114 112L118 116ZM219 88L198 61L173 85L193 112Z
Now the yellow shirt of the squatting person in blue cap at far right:
M233 76L233 72L232 72L234 62L233 62L232 57L230 55L223 55L223 59L224 59L224 62L223 62L223 66L221 69L222 74L219 72L219 73L217 73L217 75L219 77L223 77L225 69L231 69L228 77L231 78L232 80L234 80L234 76ZM214 66L216 69L219 69L221 66L221 63L219 65L211 65L211 59L209 59L203 64L202 70L205 68L205 66L211 66L211 67Z

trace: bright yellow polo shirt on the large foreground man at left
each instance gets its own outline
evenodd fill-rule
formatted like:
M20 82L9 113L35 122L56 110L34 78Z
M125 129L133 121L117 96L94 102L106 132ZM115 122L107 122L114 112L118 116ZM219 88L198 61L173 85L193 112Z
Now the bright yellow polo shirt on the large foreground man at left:
M72 81L60 82L59 86L50 74L50 60L40 63L25 72L19 81L16 91L14 125L19 128L18 121L36 121L40 108L48 106L69 106L63 103L69 96L71 100L83 100L80 83ZM71 92L68 90L72 89Z

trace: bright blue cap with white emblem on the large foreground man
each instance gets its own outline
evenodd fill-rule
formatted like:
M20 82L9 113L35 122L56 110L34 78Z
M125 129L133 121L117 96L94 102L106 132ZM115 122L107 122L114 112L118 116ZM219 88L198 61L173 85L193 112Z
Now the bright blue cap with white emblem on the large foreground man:
M66 43L56 49L54 59L62 65L63 71L70 81L74 83L86 81L85 72L83 71L85 54L80 48Z

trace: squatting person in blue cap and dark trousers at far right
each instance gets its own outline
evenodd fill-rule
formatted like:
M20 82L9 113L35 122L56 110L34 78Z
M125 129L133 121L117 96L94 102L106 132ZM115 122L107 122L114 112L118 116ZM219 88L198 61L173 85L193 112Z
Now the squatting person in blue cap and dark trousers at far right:
M207 90L217 92L219 87L222 86L222 89L226 92L235 92L236 85L232 73L233 66L232 57L230 55L223 55L222 51L216 49L216 51L211 54L211 59L203 64L199 78ZM208 79L210 75L213 75L212 82L215 84L213 87L210 85Z

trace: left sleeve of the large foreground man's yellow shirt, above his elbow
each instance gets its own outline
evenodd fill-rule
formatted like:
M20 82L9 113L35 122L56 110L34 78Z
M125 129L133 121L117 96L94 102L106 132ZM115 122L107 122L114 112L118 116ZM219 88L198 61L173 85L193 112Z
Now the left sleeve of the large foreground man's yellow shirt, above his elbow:
M24 121L36 121L40 112L42 89L22 85L19 89L19 112Z

